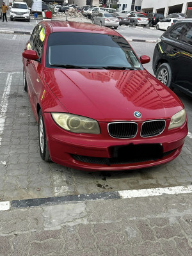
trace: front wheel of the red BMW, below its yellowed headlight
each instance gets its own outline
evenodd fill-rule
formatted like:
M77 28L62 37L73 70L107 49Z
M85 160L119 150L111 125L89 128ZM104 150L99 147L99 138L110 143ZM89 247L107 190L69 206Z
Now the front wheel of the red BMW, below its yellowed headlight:
M44 118L41 110L38 113L38 141L39 141L40 156L45 162L51 162L51 157L50 157L49 149L47 146Z

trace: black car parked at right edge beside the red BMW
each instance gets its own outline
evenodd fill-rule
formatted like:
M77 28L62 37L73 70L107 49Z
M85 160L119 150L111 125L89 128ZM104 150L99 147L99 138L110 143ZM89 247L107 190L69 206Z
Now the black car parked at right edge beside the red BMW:
M192 96L192 19L178 20L157 39L153 70L170 89Z

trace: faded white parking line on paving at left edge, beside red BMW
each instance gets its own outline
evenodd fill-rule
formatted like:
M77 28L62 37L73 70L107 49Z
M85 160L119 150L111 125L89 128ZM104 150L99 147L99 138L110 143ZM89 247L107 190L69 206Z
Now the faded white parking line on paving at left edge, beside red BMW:
M0 105L0 147L1 147L3 131L4 131L4 123L6 118L6 111L8 108L8 97L10 95L11 84L12 84L12 73L8 73L6 83L5 83L5 88L3 91L2 100L1 100L1 105Z

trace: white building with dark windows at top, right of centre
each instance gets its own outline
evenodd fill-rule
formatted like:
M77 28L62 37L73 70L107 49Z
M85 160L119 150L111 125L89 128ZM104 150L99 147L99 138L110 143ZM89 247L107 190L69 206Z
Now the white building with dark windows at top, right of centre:
M119 0L117 2L118 12L120 11L141 11L141 2L142 0Z

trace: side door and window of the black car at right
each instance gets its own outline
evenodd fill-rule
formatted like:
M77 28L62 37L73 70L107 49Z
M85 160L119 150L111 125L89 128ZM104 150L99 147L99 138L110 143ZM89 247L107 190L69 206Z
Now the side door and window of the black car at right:
M173 81L180 89L192 92L192 24L179 24L169 36L175 40L171 56Z

